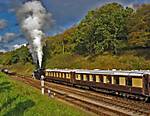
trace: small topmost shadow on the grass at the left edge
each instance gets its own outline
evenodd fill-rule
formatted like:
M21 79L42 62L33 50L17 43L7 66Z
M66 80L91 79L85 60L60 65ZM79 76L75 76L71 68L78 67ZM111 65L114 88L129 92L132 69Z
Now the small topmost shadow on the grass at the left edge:
M0 93L11 90L11 87L12 86L11 86L10 82L2 82L2 83L0 83Z

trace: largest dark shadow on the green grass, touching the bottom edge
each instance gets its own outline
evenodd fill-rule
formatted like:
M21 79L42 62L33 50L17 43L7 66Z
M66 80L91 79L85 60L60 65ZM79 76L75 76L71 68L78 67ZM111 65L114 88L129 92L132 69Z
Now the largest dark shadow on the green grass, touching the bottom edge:
M16 106L10 111L6 112L4 116L23 116L24 112L29 108L33 107L35 102L32 100L26 100L16 104Z

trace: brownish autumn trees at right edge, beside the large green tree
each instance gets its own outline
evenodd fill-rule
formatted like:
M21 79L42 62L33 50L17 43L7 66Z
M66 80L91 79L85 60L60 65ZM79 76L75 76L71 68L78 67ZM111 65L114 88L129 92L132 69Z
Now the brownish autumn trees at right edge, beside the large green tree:
M150 4L139 7L128 19L129 46L150 46Z

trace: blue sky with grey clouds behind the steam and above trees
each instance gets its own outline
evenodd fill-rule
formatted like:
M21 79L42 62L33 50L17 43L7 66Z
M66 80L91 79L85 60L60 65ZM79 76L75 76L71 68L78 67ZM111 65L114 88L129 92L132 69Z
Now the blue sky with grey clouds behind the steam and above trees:
M17 17L16 9L28 0L0 0L0 52L15 49L27 43ZM105 3L118 2L124 6L150 3L150 0L40 0L48 12L52 14L53 26L46 35L61 33L77 24L86 13Z

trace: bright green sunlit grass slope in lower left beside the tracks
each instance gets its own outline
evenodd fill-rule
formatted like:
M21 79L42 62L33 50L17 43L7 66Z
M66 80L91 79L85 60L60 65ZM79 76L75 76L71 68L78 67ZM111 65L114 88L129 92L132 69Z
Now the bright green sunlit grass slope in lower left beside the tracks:
M85 112L49 99L40 91L0 73L0 116L87 116Z

